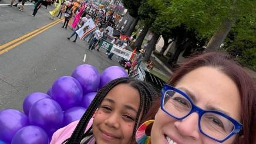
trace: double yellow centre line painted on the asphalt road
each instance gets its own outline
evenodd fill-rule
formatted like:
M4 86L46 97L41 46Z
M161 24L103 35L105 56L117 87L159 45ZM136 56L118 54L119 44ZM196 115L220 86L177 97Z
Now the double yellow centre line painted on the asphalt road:
M0 54L3 54L5 52L8 52L8 50L13 49L14 47L18 46L19 44L26 42L27 40L31 39L32 37L35 37L39 35L40 33L44 32L45 30L51 28L52 26L57 25L59 22L61 22L62 19L55 20L48 25L45 25L39 29L33 30L32 32L26 33L25 35L18 37L17 39L12 40L11 42L7 42L5 44L2 44L0 46Z

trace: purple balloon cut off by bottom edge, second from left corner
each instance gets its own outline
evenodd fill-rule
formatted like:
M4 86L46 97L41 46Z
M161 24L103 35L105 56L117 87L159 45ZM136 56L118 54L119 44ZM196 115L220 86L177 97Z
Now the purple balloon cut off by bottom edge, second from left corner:
M25 126L14 135L11 144L48 144L49 139L47 133L38 126Z

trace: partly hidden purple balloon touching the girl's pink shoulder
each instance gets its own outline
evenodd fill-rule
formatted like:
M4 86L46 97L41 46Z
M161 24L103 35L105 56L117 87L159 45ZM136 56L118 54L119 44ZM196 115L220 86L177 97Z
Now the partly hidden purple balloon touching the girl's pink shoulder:
M64 112L63 126L70 124L71 122L78 121L85 114L86 108L73 107Z

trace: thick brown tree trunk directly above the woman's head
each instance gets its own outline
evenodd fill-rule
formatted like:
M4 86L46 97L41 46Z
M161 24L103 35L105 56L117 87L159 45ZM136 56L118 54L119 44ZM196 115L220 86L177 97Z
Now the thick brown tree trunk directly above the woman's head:
M214 35L211 37L210 41L206 46L207 52L213 52L220 48L221 44L224 42L225 37L227 37L228 33L232 28L232 22L230 19L225 19L220 28Z

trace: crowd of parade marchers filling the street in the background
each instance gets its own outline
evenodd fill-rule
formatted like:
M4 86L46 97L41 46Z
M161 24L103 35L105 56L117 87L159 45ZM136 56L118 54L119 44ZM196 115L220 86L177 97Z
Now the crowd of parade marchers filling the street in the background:
M18 6L20 2L22 2L22 5ZM14 4L14 0L11 0L11 4L9 6L18 6L18 8L22 11L24 9L25 2L26 0L18 0L18 2ZM121 39L120 33L119 35L113 36L113 31L110 32L108 29L111 28L112 30L116 30L116 17L112 11L107 11L103 7L95 7L93 4L89 4L80 0L38 0L35 2L31 16L36 16L41 6L47 6L48 4L54 4L56 6L55 9L49 12L49 19L53 20L55 18L64 18L62 28L65 29L68 29L70 24L73 32L69 37L67 37L68 40L75 36L75 39L72 41L76 42L78 39L78 33L76 30L82 28L87 20L93 19L93 22L96 25L96 30L87 38L87 43L89 44L88 49L90 51L93 51L97 47L96 50L100 52L99 43L101 39L107 40L119 47L122 47L123 49L133 47L133 44L136 40L136 35L130 37L130 39ZM73 21L70 22L70 20ZM130 71L134 71L135 66L136 68L139 67L140 62L142 61L144 50L138 51L137 53L137 56L131 60L124 60L122 57L117 56L119 63L125 67L128 73L130 73ZM108 59L112 60L114 54L107 51L106 55Z

